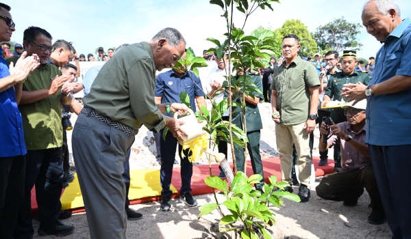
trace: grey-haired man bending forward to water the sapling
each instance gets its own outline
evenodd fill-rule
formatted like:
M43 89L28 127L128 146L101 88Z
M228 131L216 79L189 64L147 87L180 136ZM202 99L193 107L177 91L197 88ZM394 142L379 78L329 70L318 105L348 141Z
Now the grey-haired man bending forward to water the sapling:
M166 28L150 42L130 44L107 61L84 98L72 145L91 238L125 238L127 150L144 124L159 132L167 126L181 137L179 122L162 113L186 113L185 104L155 104L155 70L172 68L186 42Z

